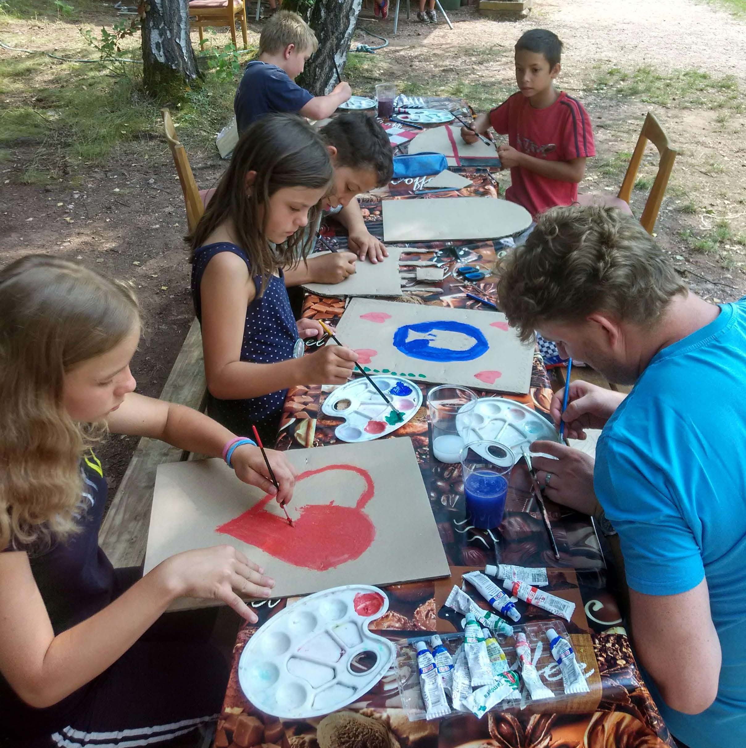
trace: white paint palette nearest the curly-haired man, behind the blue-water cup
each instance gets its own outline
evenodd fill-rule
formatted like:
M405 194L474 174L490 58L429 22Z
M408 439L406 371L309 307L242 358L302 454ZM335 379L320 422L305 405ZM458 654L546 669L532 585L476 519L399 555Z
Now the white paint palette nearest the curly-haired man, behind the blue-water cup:
M531 408L505 397L482 397L474 411L458 429L464 443L469 441L498 441L513 450L516 459L522 457L522 447L528 450L537 439L559 441L557 429ZM475 450L485 459L491 456Z

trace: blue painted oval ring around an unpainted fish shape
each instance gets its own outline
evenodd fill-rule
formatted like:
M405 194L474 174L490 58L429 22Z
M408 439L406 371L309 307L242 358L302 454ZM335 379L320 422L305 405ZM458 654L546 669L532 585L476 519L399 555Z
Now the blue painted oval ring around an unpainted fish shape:
M394 347L422 361L473 361L487 352L487 338L473 325L463 322L417 322L394 333Z

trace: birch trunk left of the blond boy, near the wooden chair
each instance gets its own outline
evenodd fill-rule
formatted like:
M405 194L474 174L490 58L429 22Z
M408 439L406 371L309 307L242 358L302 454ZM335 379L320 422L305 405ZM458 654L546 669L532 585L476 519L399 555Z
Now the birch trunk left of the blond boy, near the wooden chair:
M182 99L200 76L189 37L188 0L145 0L143 82L154 99Z

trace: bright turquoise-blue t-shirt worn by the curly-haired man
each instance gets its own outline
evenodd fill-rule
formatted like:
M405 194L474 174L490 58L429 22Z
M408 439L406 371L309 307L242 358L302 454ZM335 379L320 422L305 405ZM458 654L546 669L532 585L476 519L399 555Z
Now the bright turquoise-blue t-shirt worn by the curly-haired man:
M744 299L653 357L603 429L594 485L630 588L677 595L707 580L718 696L697 715L656 697L668 728L691 748L746 746Z

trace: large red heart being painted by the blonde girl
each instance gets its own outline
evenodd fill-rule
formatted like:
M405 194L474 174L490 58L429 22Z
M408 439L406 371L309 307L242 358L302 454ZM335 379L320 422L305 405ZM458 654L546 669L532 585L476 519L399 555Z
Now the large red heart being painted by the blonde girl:
M265 508L274 501L274 496L267 494L216 531L261 548L276 559L315 571L326 571L360 558L375 539L375 526L363 512L375 491L373 481L366 470L354 465L327 465L300 473L295 484L327 470L351 470L363 478L366 487L355 506L338 506L333 500L327 504L306 504L298 509L297 517L292 512L291 529L284 516Z

